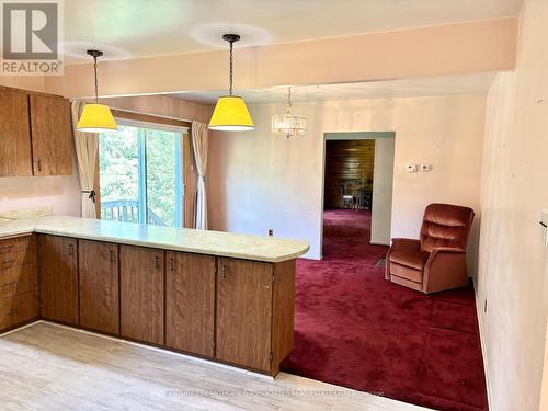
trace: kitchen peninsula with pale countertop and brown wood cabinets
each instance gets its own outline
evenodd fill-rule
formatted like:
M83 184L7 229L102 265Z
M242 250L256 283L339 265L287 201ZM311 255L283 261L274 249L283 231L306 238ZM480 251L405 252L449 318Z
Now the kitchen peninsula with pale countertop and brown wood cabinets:
M275 376L308 248L78 217L0 220L0 332L43 319Z

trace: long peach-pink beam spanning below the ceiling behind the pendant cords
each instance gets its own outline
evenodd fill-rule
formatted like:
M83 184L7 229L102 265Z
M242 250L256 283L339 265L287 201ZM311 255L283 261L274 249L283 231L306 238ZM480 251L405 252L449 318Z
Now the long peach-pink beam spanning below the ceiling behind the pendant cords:
M484 20L236 52L236 89L507 70L515 66L516 19ZM227 88L227 50L100 64L102 95ZM87 80L88 79L88 80ZM91 96L90 65L45 78L45 89Z

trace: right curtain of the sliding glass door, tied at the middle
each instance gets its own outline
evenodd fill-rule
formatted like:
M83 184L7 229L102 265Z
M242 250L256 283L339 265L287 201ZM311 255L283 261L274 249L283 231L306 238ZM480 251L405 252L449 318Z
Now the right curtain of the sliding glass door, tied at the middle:
M207 230L207 196L206 196L206 170L207 170L207 125L192 122L192 147L194 160L198 172L196 191L195 228Z

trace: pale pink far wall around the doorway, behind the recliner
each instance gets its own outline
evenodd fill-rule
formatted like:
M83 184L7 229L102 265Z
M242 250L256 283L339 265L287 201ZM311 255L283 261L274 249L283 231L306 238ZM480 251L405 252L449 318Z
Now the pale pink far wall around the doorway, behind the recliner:
M209 212L213 229L310 242L309 258L321 255L323 134L396 132L392 237L416 238L424 207L432 202L468 205L479 212L484 95L372 99L296 103L308 118L305 136L271 133L271 116L284 104L254 104L255 130L210 139ZM407 163L432 164L409 174ZM470 241L476 265L478 220Z

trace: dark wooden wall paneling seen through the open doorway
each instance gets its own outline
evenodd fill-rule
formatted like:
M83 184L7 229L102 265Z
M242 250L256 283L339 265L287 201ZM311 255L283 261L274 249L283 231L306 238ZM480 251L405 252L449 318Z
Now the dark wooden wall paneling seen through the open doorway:
M341 184L346 194L357 195L365 178L365 187L373 190L375 140L326 141L324 208L340 208Z

